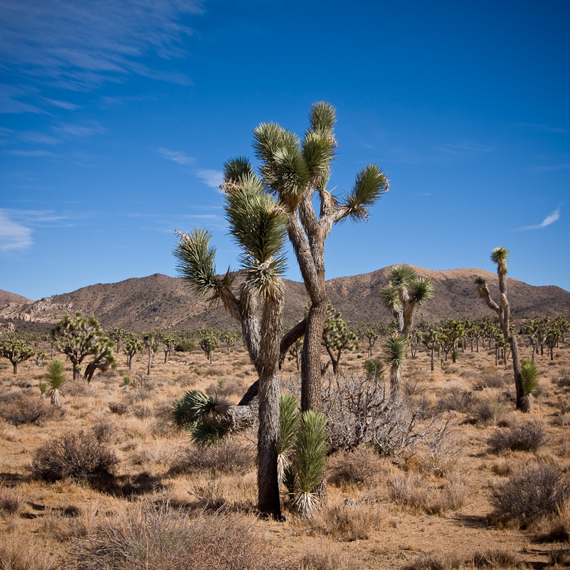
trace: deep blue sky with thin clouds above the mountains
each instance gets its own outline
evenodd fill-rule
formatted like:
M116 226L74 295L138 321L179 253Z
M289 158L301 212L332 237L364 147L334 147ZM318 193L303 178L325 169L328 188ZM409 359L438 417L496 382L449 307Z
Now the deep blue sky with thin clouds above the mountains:
M0 0L0 289L176 275L174 228L236 266L223 162L337 107L329 188L378 164L327 278L394 263L570 290L566 1ZM300 280L293 258L287 277Z

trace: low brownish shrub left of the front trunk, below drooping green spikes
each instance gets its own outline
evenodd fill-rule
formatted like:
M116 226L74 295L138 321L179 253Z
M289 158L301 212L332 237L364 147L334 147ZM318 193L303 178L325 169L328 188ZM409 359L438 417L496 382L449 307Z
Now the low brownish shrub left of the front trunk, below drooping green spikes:
M255 450L242 440L229 440L207 448L193 446L183 450L171 473L247 473L253 468Z

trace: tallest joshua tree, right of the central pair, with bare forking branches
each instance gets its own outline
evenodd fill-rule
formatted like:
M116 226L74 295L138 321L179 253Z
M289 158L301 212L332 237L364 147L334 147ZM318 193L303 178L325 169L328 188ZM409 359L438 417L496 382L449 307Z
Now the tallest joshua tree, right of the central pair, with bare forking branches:
M285 342L304 334L301 359L301 409L320 410L321 340L327 320L327 291L324 285L324 241L332 226L346 219L366 220L369 207L388 191L381 169L369 164L359 171L352 191L338 198L327 190L330 165L337 148L334 137L336 111L326 102L312 105L309 127L302 139L274 122L262 123L253 131L253 149L260 161L263 188L278 197L288 219L287 233L311 300L307 318L292 329ZM225 183L253 176L248 159L239 157L226 164ZM315 211L313 198L319 205Z

